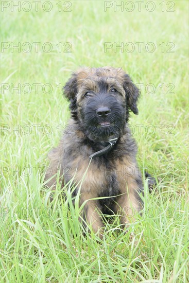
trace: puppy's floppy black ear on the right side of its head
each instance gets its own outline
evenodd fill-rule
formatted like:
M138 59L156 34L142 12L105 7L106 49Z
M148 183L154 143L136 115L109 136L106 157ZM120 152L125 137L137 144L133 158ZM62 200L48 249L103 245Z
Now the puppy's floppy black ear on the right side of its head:
M139 114L139 110L137 108L137 101L140 96L140 91L138 87L133 83L129 75L124 76L124 90L126 93L126 102L130 110L134 114Z

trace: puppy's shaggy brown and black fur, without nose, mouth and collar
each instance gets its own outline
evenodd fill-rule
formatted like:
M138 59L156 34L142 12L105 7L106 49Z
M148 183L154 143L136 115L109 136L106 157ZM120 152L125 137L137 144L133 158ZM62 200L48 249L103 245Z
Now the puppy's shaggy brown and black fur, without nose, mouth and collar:
M136 163L137 147L128 129L129 112L138 114L139 90L121 68L82 68L65 84L64 95L70 100L71 131L50 151L50 168L45 179L51 178L47 186L55 188L59 169L63 187L71 179L79 183L85 173L79 205L89 201L84 205L82 217L101 235L104 224L99 213L120 214L121 223L126 224L132 214L129 208L137 211L142 208L139 193L143 192L143 183ZM111 110L108 117L96 115L101 106ZM110 121L111 125L99 126L102 120ZM106 143L114 136L118 136L115 146L108 153L93 157L90 163L89 156L104 148L101 142ZM76 186L74 195L77 191ZM99 197L100 200L91 200Z

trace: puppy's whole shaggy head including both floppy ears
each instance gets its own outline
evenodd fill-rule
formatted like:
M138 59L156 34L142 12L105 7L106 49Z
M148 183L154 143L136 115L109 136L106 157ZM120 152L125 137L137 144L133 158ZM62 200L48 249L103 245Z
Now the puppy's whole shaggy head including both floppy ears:
M120 68L83 68L64 86L73 117L96 141L122 135L129 110L138 114L139 90Z

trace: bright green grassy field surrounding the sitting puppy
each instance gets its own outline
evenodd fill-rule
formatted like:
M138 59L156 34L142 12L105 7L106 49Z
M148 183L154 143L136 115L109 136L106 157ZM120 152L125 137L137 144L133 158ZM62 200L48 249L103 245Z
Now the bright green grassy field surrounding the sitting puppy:
M147 2L2 1L1 282L188 282L188 2ZM142 84L130 124L142 171L160 181L144 184L128 233L115 217L97 241L68 211L70 189L50 208L43 179L70 117L61 87L79 66L107 65Z

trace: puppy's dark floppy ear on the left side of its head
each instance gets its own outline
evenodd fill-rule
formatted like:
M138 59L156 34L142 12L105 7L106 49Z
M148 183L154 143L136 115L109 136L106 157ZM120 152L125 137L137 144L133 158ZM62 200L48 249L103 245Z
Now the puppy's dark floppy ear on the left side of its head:
M63 87L63 92L66 98L73 100L77 94L77 74L73 73L71 78Z

